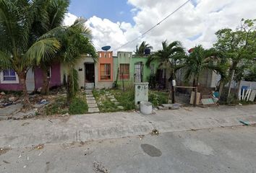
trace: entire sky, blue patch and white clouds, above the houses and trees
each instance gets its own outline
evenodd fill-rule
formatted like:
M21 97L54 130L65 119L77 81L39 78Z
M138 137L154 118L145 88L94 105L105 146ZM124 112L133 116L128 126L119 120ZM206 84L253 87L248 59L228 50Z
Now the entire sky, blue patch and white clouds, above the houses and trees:
M142 33L174 12L186 0L71 0L64 25L76 17L88 19L86 25L93 35L97 50L111 45L111 50L134 51L146 41L153 51L161 49L167 40L182 42L187 50L202 45L210 48L216 42L215 33L222 28L236 29L242 18L255 19L255 0L191 0L147 35ZM135 40L135 38L137 38ZM135 40L119 48L130 40ZM117 49L119 48L119 49Z

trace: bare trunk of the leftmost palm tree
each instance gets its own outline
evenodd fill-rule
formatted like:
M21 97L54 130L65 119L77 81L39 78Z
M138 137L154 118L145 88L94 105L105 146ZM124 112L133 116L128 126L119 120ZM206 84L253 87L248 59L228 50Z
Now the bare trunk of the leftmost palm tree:
M25 71L22 71L21 73L18 73L19 79L20 79L20 84L22 85L22 92L23 92L23 107L26 110L32 109L32 105L30 103L29 96L27 94L27 85L26 85L26 73Z

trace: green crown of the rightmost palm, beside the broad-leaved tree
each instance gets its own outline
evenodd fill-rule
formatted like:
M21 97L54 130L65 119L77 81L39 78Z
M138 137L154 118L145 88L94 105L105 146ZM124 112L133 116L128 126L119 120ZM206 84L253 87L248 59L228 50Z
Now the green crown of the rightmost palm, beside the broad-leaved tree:
M193 79L193 86L197 86L199 82L200 74L205 69L211 69L217 71L221 75L225 75L223 71L223 67L219 64L214 64L214 62L218 62L218 52L213 48L209 50L205 50L202 48L202 45L197 45L193 48L192 53L187 56L185 79Z

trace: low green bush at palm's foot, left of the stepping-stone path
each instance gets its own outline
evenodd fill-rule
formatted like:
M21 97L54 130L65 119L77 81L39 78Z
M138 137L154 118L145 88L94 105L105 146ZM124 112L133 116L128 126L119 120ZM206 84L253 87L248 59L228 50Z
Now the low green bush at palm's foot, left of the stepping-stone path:
M72 102L69 105L70 115L85 114L86 112L88 112L88 105L85 102L85 99L81 99L78 97L72 99Z

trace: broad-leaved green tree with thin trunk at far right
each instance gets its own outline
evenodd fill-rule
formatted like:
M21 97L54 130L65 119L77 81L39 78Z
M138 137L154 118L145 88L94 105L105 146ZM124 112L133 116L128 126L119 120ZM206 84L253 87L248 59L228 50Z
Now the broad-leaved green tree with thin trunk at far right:
M242 19L241 25L236 30L226 28L216 32L218 40L214 47L221 51L229 62L229 86L236 76L236 71L242 70L243 63L256 57L255 22L256 19Z

